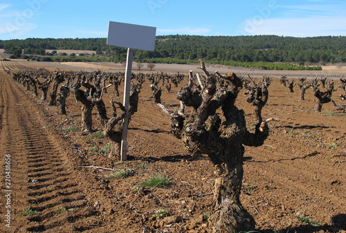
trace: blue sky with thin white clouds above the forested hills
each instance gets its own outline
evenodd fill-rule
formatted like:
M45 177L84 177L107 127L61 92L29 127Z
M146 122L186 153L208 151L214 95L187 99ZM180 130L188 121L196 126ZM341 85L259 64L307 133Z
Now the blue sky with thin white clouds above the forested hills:
M346 36L345 0L1 0L0 39L107 37L109 21L156 35Z

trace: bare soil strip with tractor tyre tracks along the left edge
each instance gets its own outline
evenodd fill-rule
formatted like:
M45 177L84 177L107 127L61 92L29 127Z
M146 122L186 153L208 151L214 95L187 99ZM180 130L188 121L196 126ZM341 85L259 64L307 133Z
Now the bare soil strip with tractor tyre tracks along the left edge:
M95 208L86 200L70 171L54 131L33 100L0 71L1 158L10 155L10 207L1 203L1 223L10 210L9 232L72 232L95 228ZM1 167L5 160L1 160ZM4 184L5 180L1 179ZM30 216L31 212L39 215Z

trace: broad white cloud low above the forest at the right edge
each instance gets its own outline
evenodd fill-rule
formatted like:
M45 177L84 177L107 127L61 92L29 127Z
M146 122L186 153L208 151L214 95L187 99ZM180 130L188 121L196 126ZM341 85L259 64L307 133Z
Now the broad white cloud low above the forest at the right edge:
M317 37L346 35L346 17L306 17L248 20L240 27L247 35Z

